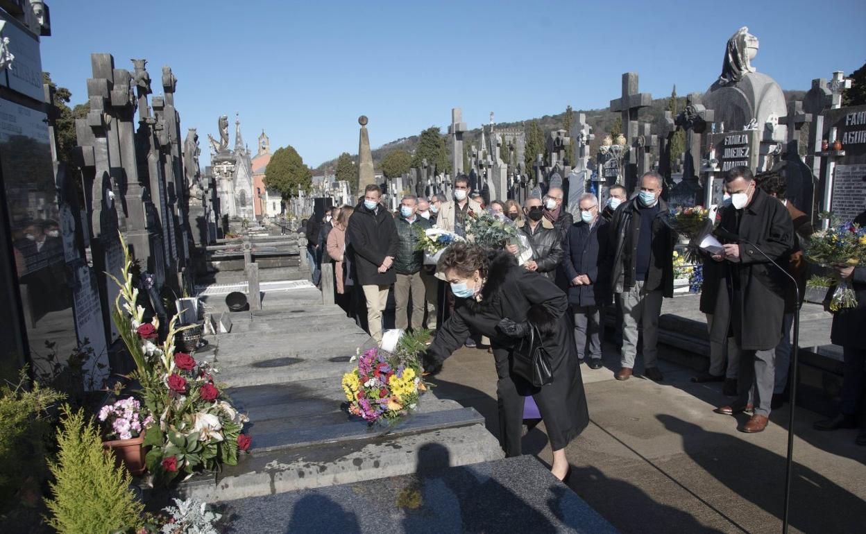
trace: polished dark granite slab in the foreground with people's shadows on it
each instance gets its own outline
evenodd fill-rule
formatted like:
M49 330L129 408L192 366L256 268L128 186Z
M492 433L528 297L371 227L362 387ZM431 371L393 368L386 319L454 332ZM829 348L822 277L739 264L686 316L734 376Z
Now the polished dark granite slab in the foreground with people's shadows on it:
M419 473L239 499L221 511L240 533L617 532L531 456L437 469L444 451L420 453Z

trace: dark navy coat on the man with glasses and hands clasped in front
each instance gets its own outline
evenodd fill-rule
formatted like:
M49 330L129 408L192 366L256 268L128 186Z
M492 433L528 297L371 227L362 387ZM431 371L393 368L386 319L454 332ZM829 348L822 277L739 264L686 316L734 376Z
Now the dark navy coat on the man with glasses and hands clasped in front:
M611 302L611 232L607 222L598 217L591 227L581 221L572 224L565 235L565 276L568 278L568 301L575 306L606 306ZM578 274L586 274L588 286L573 286Z

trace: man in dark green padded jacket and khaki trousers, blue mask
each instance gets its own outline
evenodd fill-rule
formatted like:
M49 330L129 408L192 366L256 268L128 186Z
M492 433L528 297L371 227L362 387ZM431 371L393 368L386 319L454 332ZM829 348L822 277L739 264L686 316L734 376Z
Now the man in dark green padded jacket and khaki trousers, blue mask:
M421 274L424 267L424 253L417 249L418 240L424 230L430 228L430 221L422 218L416 212L418 199L406 195L400 203L400 215L397 216L397 236L400 246L394 258L394 270L397 271L397 281L394 283L394 304L397 318L394 325L406 330L409 321L406 308L409 307L409 297L412 298L412 331L421 330L424 320L424 305L426 304L426 288Z

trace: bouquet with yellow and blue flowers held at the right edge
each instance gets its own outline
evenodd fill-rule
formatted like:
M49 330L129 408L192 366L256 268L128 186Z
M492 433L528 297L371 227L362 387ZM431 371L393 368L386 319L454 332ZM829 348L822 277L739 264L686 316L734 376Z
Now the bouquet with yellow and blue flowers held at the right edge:
M858 267L866 261L866 228L852 222L831 224L830 228L812 234L805 258L823 267ZM848 282L833 278L830 283L836 287L830 299L830 311L857 306L856 295ZM813 277L810 285L814 284Z

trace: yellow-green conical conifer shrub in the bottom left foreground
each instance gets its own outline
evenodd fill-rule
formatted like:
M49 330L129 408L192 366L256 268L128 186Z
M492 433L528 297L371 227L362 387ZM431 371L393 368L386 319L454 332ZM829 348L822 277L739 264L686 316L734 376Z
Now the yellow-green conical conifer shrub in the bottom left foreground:
M48 524L60 534L140 528L144 505L129 490L132 477L114 466L112 454L103 453L99 430L81 409L63 406L61 412L60 450L57 460L48 462L55 477L46 499Z

